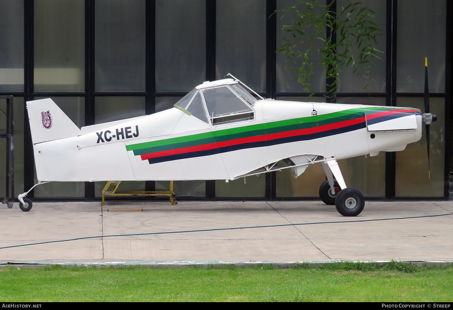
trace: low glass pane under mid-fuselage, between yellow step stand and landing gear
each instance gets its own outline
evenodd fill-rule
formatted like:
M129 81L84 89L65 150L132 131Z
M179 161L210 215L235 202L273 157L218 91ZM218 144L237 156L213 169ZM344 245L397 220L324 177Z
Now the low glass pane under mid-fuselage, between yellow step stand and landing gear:
M266 174L225 182L216 180L216 197L265 197Z

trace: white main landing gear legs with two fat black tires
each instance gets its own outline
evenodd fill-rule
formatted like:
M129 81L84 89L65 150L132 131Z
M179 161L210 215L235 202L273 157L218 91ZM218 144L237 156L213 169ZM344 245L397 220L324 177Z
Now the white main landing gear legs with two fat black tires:
M365 206L365 199L357 189L346 187L337 160L330 157L321 164L327 176L327 181L319 188L321 200L326 204L335 204L335 208L343 216L360 214ZM335 179L333 179L334 177Z

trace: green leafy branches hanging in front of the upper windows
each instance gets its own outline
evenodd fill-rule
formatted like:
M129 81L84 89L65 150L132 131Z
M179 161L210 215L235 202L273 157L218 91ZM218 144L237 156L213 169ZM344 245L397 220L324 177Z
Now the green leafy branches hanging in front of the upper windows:
M313 68L319 64L313 61L314 53L321 55L320 64L326 69L328 97L331 98L337 97L339 75L346 67L351 66L354 74L368 81L375 58L380 59L378 54L382 52L376 48L376 38L381 35L381 29L373 22L375 12L366 1L346 2L345 7L333 10L335 0L327 5L317 0L296 0L292 7L281 10L283 17L289 13L297 17L291 24L283 25L285 44L279 46L277 52L286 56L285 70L298 75L304 91L311 92L310 97L314 92ZM316 40L321 40L323 47L313 51ZM300 50L302 44L307 48ZM368 88L368 82L364 88Z

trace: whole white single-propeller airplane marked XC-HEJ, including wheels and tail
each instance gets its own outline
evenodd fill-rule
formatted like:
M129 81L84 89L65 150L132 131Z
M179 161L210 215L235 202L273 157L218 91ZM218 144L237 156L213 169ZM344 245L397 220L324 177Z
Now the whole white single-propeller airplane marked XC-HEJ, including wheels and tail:
M422 122L435 118L412 108L281 101L252 91L256 99L231 77L198 85L169 110L80 129L50 98L27 102L38 184L228 182L287 168L297 178L320 163L323 202L356 216L363 195L347 187L337 160L404 150L420 139ZM23 211L32 207L28 192L18 197Z

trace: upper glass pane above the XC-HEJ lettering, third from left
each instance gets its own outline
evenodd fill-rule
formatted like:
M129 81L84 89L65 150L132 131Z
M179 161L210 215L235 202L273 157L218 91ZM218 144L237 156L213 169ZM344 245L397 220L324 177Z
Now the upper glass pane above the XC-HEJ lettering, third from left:
M95 1L96 92L145 91L145 1Z

